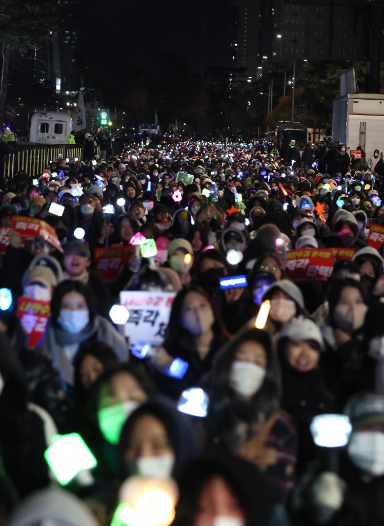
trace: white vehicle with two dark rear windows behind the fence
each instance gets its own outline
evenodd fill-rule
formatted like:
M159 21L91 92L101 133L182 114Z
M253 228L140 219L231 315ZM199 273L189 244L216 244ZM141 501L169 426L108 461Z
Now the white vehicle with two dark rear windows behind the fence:
M72 130L72 117L53 110L37 110L30 119L29 142L67 144Z

